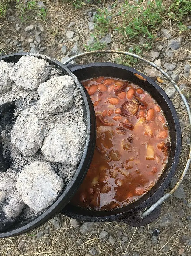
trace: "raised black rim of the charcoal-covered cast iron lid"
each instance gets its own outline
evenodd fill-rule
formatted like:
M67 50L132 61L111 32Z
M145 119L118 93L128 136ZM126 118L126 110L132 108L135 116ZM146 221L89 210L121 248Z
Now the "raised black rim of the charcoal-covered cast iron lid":
M7 56L3 56L0 58L1 60L5 60L6 62L16 63L23 55L30 55L29 53L16 53ZM68 183L65 189L62 191L58 199L51 205L44 213L39 215L37 218L29 218L24 221L16 221L12 226L8 227L5 232L0 233L0 238L16 236L19 234L27 233L37 227L43 225L45 222L53 218L58 212L62 210L62 208L70 201L73 197L76 189L79 187L80 183L83 181L84 176L87 173L87 170L90 166L91 159L93 157L94 148L95 148L95 140L96 140L96 120L95 120L95 112L90 96L87 91L84 89L83 85L76 78L76 76L62 63L58 62L55 59L51 59L44 55L37 55L36 57L41 58L49 62L51 67L55 68L60 75L69 75L71 76L77 87L80 89L83 100L83 113L84 113L84 121L87 128L86 134L86 142L85 148L80 160L79 166L74 174L70 183ZM14 105L9 105L11 109ZM0 121L2 120L2 125L6 125L9 122L9 109L7 108L7 103L0 107ZM6 113L7 112L7 113ZM4 116L5 115L5 116ZM4 116L4 117L3 117ZM1 126L2 127L2 126ZM9 163L8 163L9 165ZM0 169L0 171L2 171Z

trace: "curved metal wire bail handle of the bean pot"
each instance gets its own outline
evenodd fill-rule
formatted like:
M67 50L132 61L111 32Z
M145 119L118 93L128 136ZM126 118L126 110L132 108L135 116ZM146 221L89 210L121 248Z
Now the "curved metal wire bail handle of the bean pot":
M92 54L99 54L99 53L117 53L117 54L122 54L122 55L127 55L136 59L139 59L143 62L146 62L147 64L151 65L152 67L156 68L160 73L162 73L167 79L168 81L175 87L176 91L179 93L180 97L182 98L182 101L184 102L184 105L186 107L186 111L188 114L188 118L189 118L189 125L190 125L190 134L191 134L191 111L189 108L189 104L188 101L186 100L184 94L182 93L181 89L179 88L179 86L175 83L175 81L172 79L171 76L168 75L168 73L166 73L161 67L159 67L158 65L156 65L155 63L146 60L134 53L131 52L124 52L124 51L118 51L118 50L97 50L97 51L90 51L90 52L84 52L84 53L80 53L78 55L75 55L71 58L69 58L67 61L65 61L63 64L67 65L69 62L71 62L74 59L83 57L83 56L88 56L88 55L92 55ZM156 201L152 206L150 206L146 211L144 211L141 214L141 217L146 217L147 215L149 215L151 212L154 211L154 209L156 209L162 202L164 202L170 195L172 195L175 190L179 187L180 183L182 182L184 176L186 175L187 170L189 169L189 164L191 162L191 143L190 143L190 148L189 148L189 154L188 154L188 158L186 161L186 165L184 170L182 171L181 176L179 177L179 180L177 181L177 183L175 184L175 186L166 194L164 194L158 201Z

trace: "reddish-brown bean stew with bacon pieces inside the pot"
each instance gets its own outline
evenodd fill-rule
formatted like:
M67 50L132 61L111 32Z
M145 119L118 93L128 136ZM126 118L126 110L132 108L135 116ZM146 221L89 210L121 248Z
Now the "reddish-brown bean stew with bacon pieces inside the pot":
M84 80L96 113L94 156L72 204L112 210L139 199L168 161L168 124L157 102L128 81Z

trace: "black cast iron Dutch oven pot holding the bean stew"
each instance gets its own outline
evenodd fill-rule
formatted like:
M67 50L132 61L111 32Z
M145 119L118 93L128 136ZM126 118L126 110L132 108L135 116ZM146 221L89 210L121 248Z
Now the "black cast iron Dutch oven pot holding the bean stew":
M70 66L70 70L81 81L98 76L113 77L116 79L129 80L149 92L150 95L152 95L152 97L158 102L167 119L171 137L171 151L166 168L158 182L147 194L143 195L143 197L136 202L113 211L86 210L67 204L67 206L62 210L62 213L81 221L120 221L134 227L143 226L154 221L161 213L161 205L145 218L141 217L141 211L154 204L163 195L164 190L175 173L181 152L180 123L171 100L156 82L148 76L145 76L143 73L138 72L136 69L127 66L113 63L93 63ZM143 79L139 79L135 74L141 75L145 78L145 81Z

